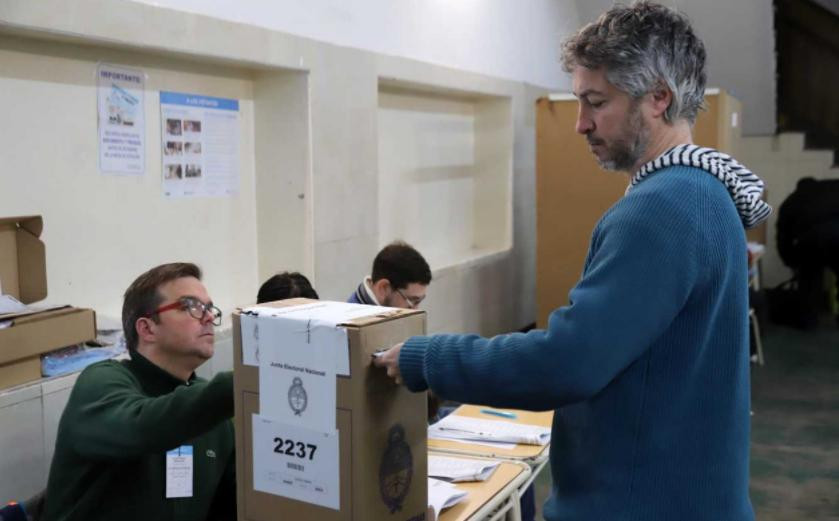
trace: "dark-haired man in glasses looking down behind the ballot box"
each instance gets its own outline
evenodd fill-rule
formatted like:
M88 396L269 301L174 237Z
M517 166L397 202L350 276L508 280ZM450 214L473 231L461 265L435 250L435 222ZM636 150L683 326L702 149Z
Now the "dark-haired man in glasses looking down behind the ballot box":
M347 302L415 309L425 299L431 269L420 253L397 241L385 246L373 259L373 272Z

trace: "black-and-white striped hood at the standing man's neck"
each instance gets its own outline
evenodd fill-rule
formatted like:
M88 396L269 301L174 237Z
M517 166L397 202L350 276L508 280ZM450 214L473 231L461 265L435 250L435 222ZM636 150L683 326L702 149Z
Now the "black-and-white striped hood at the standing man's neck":
M754 228L772 213L772 207L760 198L763 194L762 179L728 154L696 145L677 145L644 164L632 176L627 193L653 172L675 165L701 168L722 181L746 228Z

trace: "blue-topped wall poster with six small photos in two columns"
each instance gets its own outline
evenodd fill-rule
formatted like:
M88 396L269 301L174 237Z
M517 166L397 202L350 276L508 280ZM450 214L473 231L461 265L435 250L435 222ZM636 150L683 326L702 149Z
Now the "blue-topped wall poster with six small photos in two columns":
M239 100L160 92L163 195L239 193Z

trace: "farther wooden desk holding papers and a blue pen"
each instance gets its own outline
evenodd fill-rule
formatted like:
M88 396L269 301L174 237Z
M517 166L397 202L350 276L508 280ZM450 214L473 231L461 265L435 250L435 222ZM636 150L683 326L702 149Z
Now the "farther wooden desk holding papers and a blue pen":
M497 420L497 421L512 421L514 423L521 423L527 425L540 425L542 427L551 427L553 423L553 411L545 412L530 412L530 411L514 411L516 413L515 420L506 420L494 416L481 413L481 409L477 405L461 405L452 414L458 416L468 416L470 418L480 418L482 420ZM512 409L504 409L512 410ZM548 454L550 453L550 444L545 446L540 445L524 445L518 444L512 449L501 449L496 447L488 447L486 445L475 445L472 443L461 443L452 440L428 440L428 450L437 452L446 452L449 454L461 454L469 456L478 456L481 458L500 459L521 461L527 463L531 467L531 474L529 478L519 487L521 492L524 492L527 487L533 483L536 476L548 463Z

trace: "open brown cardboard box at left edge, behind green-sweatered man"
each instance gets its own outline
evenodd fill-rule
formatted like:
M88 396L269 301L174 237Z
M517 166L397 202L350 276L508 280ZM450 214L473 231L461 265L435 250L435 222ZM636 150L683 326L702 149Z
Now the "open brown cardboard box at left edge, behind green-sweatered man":
M47 296L40 216L0 219L0 293L24 304ZM41 353L96 338L92 309L70 306L0 314L0 388L41 377Z

